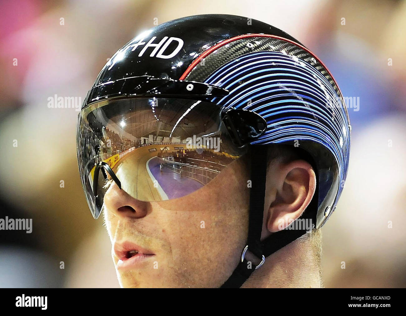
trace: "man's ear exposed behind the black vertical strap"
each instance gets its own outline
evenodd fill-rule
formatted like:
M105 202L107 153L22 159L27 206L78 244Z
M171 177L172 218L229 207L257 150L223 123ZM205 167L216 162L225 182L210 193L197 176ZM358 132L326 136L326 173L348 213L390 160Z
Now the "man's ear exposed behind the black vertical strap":
M268 232L278 232L298 219L307 208L315 193L316 175L305 160L276 164L270 173L273 195L266 227Z

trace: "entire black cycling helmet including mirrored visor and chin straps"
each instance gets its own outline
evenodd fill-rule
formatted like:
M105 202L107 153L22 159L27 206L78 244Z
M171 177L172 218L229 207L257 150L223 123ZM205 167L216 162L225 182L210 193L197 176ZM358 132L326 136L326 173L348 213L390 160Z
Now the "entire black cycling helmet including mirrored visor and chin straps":
M305 212L324 225L348 170L351 126L324 64L285 32L234 15L195 15L138 35L106 63L78 119L82 184L97 218L114 183L141 201L195 192L251 155L247 246L224 287L251 275L246 251L265 257L306 233L260 240L268 146L299 146L317 193ZM262 258L262 260L261 260Z

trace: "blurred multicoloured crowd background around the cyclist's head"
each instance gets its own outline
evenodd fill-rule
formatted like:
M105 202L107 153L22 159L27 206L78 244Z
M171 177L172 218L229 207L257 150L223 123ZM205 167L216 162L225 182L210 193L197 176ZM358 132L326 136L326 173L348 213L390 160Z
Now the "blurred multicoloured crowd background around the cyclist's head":
M2 0L0 12L0 218L33 219L31 234L0 231L0 287L119 286L80 183L78 112L48 108L48 97L83 100L154 21L205 13L284 30L356 100L346 188L322 229L324 286L406 286L406 2Z

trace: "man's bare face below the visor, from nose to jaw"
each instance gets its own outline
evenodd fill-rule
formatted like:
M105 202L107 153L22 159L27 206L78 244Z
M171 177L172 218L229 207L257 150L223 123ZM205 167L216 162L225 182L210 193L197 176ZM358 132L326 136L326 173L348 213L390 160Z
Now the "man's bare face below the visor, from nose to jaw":
M239 158L194 193L167 201L138 201L113 183L103 214L121 286L221 286L246 242L246 166Z

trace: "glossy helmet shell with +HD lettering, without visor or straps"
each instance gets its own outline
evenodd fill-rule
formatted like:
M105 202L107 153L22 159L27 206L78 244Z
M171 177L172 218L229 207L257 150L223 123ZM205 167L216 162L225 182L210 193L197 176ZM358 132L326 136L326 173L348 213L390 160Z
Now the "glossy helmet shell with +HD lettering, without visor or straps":
M151 78L171 84L154 84ZM252 144L291 144L312 156L318 175L315 226L324 225L346 179L351 126L341 92L323 63L293 37L254 19L184 17L143 32L118 50L83 108L117 97L196 98L184 81L204 84L202 100L261 115L266 132ZM229 93L213 94L213 87Z

